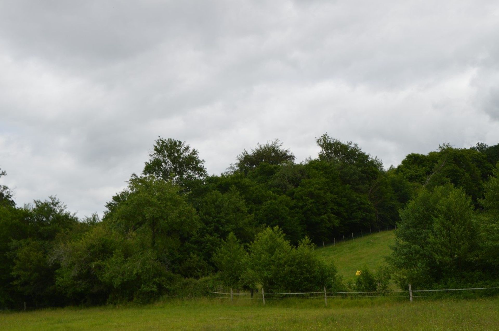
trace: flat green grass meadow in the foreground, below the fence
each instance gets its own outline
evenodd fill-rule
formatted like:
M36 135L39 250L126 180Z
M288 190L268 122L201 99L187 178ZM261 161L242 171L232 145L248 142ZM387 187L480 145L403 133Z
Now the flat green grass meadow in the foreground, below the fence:
M220 299L0 313L0 330L497 330L499 298L416 301Z

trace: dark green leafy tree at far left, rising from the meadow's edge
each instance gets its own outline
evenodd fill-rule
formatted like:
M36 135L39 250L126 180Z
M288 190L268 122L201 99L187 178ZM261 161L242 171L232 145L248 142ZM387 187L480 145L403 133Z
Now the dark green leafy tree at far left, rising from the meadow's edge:
M10 261L3 270L9 276L2 275L10 282L9 301L39 306L64 304L65 299L55 286L59 265L52 256L54 248L77 226L77 218L55 197L9 211L6 220L1 221L2 230L12 231L7 234L3 255Z

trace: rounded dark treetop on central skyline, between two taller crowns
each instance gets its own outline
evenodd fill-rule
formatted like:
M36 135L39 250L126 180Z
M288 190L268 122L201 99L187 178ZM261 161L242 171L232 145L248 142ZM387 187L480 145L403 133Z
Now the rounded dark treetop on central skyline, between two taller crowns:
M282 148L279 139L275 139L263 145L258 143L250 152L245 149L238 155L237 161L236 170L248 174L251 169L263 162L274 165L293 162L294 155L289 149Z

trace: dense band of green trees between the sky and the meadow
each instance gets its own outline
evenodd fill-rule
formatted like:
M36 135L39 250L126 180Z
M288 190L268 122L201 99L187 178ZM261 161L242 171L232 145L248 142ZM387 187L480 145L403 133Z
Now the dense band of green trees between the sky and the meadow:
M498 213L491 206L499 144L443 145L384 169L352 142L327 134L316 142L320 152L314 159L296 163L274 140L244 150L224 174L208 176L196 149L160 137L143 173L132 174L128 187L106 204L102 221L96 215L78 220L53 197L16 207L1 186L0 308L147 302L218 284L249 290L338 287L334 266L312 254L313 243L396 223L399 253L391 259L401 285L413 279L438 283L443 272L476 275L486 265L498 271L491 262ZM448 196L461 200L452 205ZM424 199L434 205L426 208ZM444 213L458 205L467 208L464 214ZM418 208L426 214L411 221ZM435 239L447 233L445 226L453 231L455 221L439 220L456 217L474 224L459 225L461 232L476 234L468 240L474 248L460 248L459 258L441 248L425 253L430 243L445 246ZM420 251L417 261L410 258L413 249ZM433 259L437 251L445 258ZM376 284L374 278L370 283Z

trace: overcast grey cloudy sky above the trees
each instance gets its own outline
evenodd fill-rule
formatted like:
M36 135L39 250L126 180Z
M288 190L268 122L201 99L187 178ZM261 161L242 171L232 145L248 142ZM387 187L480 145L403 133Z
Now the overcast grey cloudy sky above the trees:
M2 0L0 185L82 218L155 139L218 175L327 132L398 165L444 142L499 143L497 0Z

